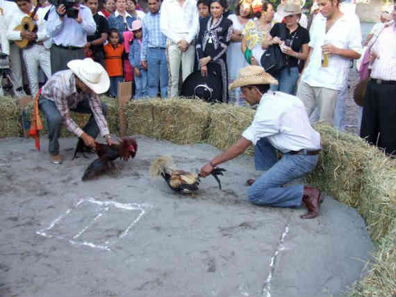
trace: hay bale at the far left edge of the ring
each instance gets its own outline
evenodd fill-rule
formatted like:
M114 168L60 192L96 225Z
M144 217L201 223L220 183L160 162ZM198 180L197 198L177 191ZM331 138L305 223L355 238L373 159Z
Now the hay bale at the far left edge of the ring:
M21 112L13 97L0 97L0 138L22 135Z

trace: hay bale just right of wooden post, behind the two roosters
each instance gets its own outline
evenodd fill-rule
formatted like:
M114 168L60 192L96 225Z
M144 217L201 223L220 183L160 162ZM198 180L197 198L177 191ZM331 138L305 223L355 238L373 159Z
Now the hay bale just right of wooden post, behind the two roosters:
M125 106L127 134L143 134L172 143L203 141L210 120L207 103L192 99L133 100Z

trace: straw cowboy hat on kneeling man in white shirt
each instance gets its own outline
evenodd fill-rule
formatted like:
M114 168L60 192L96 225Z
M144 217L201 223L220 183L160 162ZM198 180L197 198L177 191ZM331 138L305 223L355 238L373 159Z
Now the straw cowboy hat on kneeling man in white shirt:
M243 86L263 85L263 84L277 85L277 79L274 79L270 74L265 72L261 66L247 66L243 67L238 74L238 79L233 81L229 86L229 90Z

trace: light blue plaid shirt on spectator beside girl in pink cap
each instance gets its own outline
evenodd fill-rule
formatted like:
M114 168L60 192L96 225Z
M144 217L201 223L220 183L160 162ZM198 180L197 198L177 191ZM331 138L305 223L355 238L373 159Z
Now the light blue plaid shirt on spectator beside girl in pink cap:
M143 18L143 38L140 61L147 61L147 50L150 47L163 47L165 49L166 36L163 35L160 29L160 13L160 10L155 15L150 12Z

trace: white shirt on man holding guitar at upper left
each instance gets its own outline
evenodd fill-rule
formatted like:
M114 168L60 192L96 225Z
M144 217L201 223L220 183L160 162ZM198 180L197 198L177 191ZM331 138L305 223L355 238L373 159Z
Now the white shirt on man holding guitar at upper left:
M34 10L34 7L32 7L32 10ZM18 10L17 12L14 13L14 17L10 22L10 26L8 26L8 31L7 31L7 38L8 40L22 40L21 36L21 31L15 31L15 27L21 24L22 19L26 17L27 14L23 13L22 10ZM35 23L38 26L38 31L36 32L37 34L37 41L44 41L49 38L49 35L47 33L47 21L44 19L45 13L44 13L44 8L38 8L37 12L35 13L35 16L33 19L35 20Z

